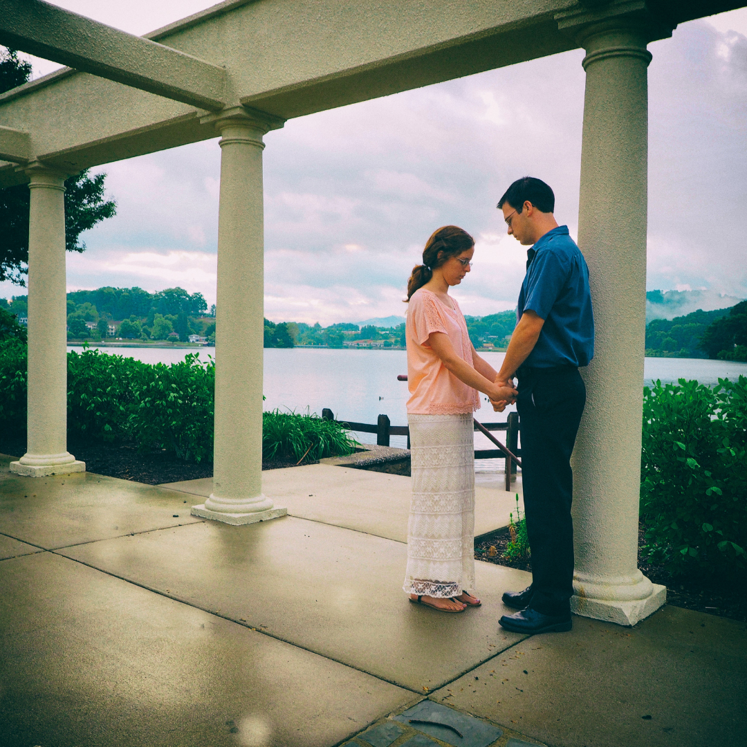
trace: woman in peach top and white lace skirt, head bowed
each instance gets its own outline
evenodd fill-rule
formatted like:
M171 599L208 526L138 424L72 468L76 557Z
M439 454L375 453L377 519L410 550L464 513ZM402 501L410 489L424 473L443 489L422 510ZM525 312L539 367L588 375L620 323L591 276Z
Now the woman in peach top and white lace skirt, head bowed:
M503 410L515 397L474 350L450 286L470 271L472 237L444 226L428 239L423 264L407 283L407 420L412 503L403 589L447 613L479 607L474 589L474 439L472 413L482 391Z

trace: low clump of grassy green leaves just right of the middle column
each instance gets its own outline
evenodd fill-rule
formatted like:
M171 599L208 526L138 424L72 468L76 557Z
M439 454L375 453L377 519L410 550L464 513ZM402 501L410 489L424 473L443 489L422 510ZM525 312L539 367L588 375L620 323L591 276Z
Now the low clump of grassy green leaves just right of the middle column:
M336 421L272 410L262 415L262 459L324 459L352 454L358 442Z

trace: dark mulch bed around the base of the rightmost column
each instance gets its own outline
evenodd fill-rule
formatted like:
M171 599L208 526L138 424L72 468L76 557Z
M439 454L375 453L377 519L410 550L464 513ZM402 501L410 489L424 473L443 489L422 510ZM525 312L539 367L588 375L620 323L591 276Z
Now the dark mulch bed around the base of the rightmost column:
M507 565L520 571L531 571L531 560L503 560L502 556L510 539L508 529L500 530L489 539L475 545L475 559ZM666 586L667 604L747 622L747 579L736 578L716 582L702 577L673 578L662 565L654 565L642 557L641 548L644 544L645 527L641 524L638 533L638 567L654 583Z

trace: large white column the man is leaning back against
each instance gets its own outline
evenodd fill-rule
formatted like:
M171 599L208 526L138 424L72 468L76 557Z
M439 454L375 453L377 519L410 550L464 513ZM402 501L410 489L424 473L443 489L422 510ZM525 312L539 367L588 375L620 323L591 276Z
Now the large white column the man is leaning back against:
M575 613L633 625L666 601L638 570L645 340L648 81L636 28L583 39L578 244L596 327L574 452Z

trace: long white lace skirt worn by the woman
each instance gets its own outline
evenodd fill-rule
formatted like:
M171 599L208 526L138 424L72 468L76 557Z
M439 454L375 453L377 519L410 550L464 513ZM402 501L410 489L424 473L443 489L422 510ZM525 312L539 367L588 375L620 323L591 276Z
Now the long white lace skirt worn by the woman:
M472 414L409 414L407 421L412 502L403 589L449 598L474 589Z

